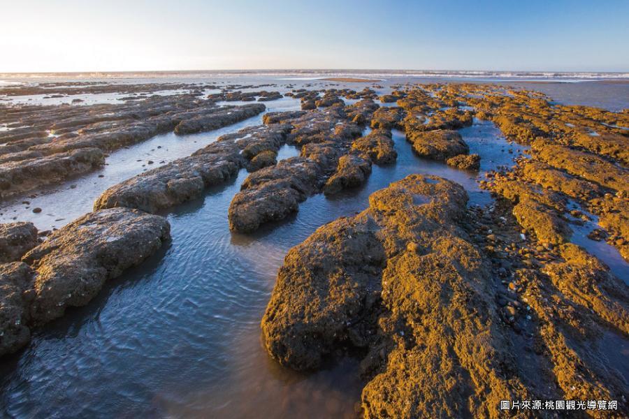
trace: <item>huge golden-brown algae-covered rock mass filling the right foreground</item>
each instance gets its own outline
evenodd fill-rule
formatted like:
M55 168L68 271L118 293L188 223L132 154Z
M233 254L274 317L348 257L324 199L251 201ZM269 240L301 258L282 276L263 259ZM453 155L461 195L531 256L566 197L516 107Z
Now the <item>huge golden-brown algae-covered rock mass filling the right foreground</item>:
M595 342L609 327L627 333L626 285L565 244L537 274L502 268L512 282L500 291L468 235L466 200L453 182L411 175L291 249L261 322L270 355L310 370L352 348L366 418L497 418L505 399L621 399L626 384Z

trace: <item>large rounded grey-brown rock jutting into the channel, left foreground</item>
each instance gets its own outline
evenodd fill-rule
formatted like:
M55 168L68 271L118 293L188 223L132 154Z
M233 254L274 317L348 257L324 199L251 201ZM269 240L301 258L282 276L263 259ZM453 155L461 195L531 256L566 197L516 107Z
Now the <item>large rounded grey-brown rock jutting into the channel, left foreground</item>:
M91 212L52 233L22 261L36 272L31 321L45 323L87 304L108 279L151 256L170 238L168 221L113 208Z

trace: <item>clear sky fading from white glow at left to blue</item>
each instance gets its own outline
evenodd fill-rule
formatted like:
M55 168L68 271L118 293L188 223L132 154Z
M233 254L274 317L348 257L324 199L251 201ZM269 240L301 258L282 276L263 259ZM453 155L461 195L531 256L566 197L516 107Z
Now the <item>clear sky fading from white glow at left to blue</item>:
M629 0L0 0L0 73L629 71Z

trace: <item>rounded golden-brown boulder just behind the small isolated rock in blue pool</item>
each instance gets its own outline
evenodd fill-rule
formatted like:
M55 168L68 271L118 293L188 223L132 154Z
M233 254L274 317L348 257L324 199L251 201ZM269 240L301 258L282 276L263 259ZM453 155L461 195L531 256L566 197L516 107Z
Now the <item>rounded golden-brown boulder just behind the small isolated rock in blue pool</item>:
M406 139L412 144L414 152L426 159L446 161L459 154L468 154L470 149L461 134L449 130L410 131Z

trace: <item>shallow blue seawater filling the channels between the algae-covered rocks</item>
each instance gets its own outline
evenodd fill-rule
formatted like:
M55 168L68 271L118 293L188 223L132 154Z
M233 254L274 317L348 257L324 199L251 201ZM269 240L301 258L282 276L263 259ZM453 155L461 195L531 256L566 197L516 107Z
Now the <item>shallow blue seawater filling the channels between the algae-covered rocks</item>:
M198 82L200 79L195 77L190 80ZM229 75L218 82L258 84L275 80L281 90L289 85L354 89L371 85L277 77ZM379 93L388 92L400 78L408 81L410 77L383 81ZM611 98L609 91L601 87L603 82L550 82L530 84L530 88L549 89L555 101L568 103L581 98L574 96L573 86L588 84L592 84L594 93L586 100L598 101L610 109L628 105L629 94L623 93L625 84L619 84L621 88ZM271 110L287 110L296 108L298 101L284 98L266 104ZM92 200L110 184L145 170L142 165L147 159L169 161L188 155L215 140L219 133L260 121L261 117L254 117L220 132L161 135L113 153L102 172L71 179L31 199L30 207L42 207L41 214L33 214L25 208L27 205L16 202L0 210L1 221L16 216L32 220L41 228L62 226L89 210ZM110 281L86 307L68 310L63 318L36 330L23 351L3 358L0 416L356 417L364 384L357 374L357 360L348 356L319 372L303 374L277 365L264 350L259 322L275 275L291 247L324 223L364 210L370 193L409 174L447 177L465 187L470 205L491 203L489 193L478 188L482 172L512 165L512 159L527 149L509 144L489 122L475 121L461 134L470 152L482 156L480 175L420 159L403 133L393 131L398 152L395 164L373 166L368 182L360 188L333 198L312 196L294 216L252 235L231 233L226 216L231 199L247 177L245 170L233 182L208 191L203 198L175 207L164 214L171 223L173 240L158 254ZM284 146L280 158L297 153L295 147ZM106 176L100 178L99 173ZM583 230L575 237L588 240ZM595 245L591 249L598 251ZM600 257L617 255L601 249ZM626 263L618 262L608 259L614 268L626 269ZM617 353L610 357L613 355ZM623 362L622 357L617 359Z

